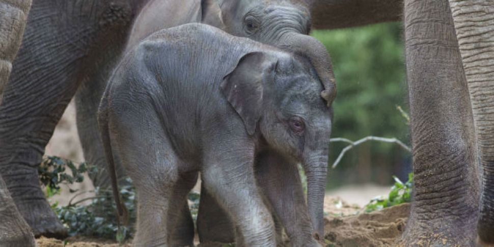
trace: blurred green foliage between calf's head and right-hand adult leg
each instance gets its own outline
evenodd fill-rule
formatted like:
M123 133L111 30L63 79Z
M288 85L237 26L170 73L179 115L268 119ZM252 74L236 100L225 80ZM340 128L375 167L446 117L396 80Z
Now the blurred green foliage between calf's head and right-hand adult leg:
M314 31L333 62L338 96L333 104L332 137L358 140L368 135L408 141L408 125L397 106L408 112L401 23ZM330 163L345 144L332 143ZM396 145L369 143L352 149L335 170L330 187L342 183L392 183L406 179L409 154ZM408 165L409 166L409 165Z

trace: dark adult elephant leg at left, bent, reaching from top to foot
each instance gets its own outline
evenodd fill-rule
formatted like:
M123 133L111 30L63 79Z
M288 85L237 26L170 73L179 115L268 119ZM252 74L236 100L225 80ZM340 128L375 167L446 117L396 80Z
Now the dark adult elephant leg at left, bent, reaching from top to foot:
M39 186L38 165L65 107L102 54L125 40L123 1L39 0L0 106L0 174L34 234L64 236ZM118 47L118 46L117 46Z

